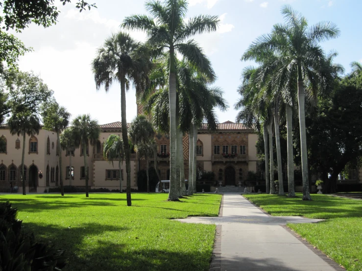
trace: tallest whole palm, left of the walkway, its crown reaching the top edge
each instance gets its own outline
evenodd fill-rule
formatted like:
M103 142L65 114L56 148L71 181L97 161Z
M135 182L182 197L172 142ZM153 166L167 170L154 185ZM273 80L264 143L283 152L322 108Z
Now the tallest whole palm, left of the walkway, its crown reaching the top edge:
M169 200L178 200L178 178L176 169L176 53L184 56L208 77L215 79L202 49L189 38L195 34L216 31L219 20L217 16L199 15L185 22L188 3L186 0L147 1L146 15L126 17L122 23L127 29L146 31L147 43L160 51L169 53L169 136L170 136L170 190Z

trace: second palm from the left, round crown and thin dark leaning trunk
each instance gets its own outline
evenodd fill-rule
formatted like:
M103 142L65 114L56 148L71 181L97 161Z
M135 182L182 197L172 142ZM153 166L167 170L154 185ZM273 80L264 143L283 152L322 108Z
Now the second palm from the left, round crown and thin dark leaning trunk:
M64 196L64 184L63 184L63 164L62 164L62 148L60 144L60 133L67 128L69 124L69 118L71 113L63 106L59 106L54 102L50 105L46 105L43 113L43 128L49 131L55 131L58 140L58 153L59 153L59 168L60 168L60 192Z

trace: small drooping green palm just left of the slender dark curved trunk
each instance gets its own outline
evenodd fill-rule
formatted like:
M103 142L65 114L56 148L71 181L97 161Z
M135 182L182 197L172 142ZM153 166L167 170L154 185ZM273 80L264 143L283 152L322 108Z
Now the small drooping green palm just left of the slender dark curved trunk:
M120 136L110 135L107 140L104 141L103 158L106 161L112 162L112 166L113 161L118 159L118 177L120 178L120 193L122 193L123 175L121 171L121 163L124 160L124 148L123 141Z

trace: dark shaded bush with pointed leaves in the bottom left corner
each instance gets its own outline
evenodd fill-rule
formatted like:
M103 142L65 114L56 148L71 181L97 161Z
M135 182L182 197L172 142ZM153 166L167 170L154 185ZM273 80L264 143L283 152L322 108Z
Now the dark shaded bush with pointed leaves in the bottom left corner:
M0 203L0 270L61 270L67 264L65 251L22 232L22 221L16 219L16 213L9 202Z

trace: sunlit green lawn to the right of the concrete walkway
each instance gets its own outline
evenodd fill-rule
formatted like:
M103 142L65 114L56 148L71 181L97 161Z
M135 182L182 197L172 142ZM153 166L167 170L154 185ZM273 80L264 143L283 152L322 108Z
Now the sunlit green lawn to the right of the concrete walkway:
M313 201L277 195L244 195L273 216L322 218L288 226L348 271L362 270L362 201L313 194Z

